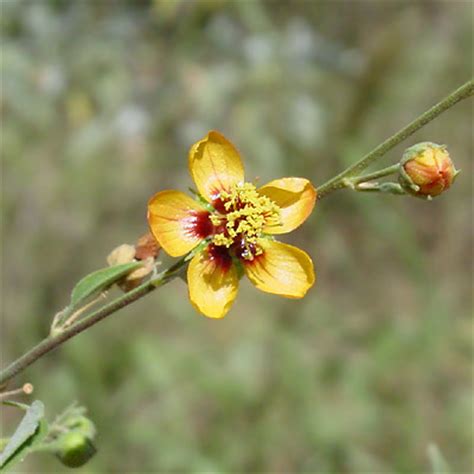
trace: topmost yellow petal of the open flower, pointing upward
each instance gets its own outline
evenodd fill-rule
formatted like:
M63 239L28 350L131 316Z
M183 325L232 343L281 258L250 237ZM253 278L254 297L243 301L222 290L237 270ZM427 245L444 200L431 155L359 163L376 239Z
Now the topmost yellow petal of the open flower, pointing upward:
M210 202L220 191L229 192L233 184L244 180L239 152L214 130L189 150L189 171L199 193Z

